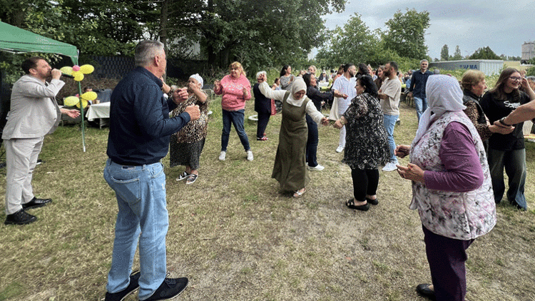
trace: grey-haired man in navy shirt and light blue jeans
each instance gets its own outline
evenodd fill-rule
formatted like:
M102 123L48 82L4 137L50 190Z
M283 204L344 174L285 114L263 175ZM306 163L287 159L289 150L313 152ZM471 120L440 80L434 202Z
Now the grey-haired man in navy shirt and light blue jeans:
M168 153L169 136L198 119L199 108L188 106L169 118L188 92L180 90L176 103L163 97L170 87L162 79L167 61L161 42L141 41L135 58L136 69L111 94L104 178L116 192L119 210L106 301L123 300L138 287L139 300L166 300L188 285L188 278L165 277L169 221L160 160ZM131 274L138 239L140 272Z

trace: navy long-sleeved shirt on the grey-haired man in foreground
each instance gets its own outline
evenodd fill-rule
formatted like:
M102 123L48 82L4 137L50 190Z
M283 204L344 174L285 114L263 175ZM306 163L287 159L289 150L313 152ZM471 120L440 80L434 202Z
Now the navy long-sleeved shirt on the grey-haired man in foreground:
M188 113L169 118L176 108L165 100L163 82L146 68L137 67L111 94L108 157L122 165L157 163L167 155L169 136L190 121Z

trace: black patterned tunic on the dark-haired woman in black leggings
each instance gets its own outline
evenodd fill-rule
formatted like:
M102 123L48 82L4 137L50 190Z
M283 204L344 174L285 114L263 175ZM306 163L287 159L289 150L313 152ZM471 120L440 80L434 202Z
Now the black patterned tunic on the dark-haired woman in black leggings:
M362 93L352 99L347 120L342 163L352 169L377 169L389 162L390 151L379 99Z

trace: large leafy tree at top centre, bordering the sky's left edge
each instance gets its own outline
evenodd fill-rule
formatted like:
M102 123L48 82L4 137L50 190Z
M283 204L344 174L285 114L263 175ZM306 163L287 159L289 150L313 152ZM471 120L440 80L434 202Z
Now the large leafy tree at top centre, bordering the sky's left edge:
M345 0L207 0L195 14L169 18L167 26L185 25L197 34L213 66L226 68L237 60L255 69L306 61L307 53L326 40L321 16L344 7Z

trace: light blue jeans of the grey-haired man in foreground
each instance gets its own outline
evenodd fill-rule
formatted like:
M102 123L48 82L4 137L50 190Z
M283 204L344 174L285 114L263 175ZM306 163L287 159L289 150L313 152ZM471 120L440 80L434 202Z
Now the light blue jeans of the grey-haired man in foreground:
M104 179L115 190L119 208L106 290L128 286L139 238L139 300L147 299L165 279L169 219L163 165L119 165L108 159Z

